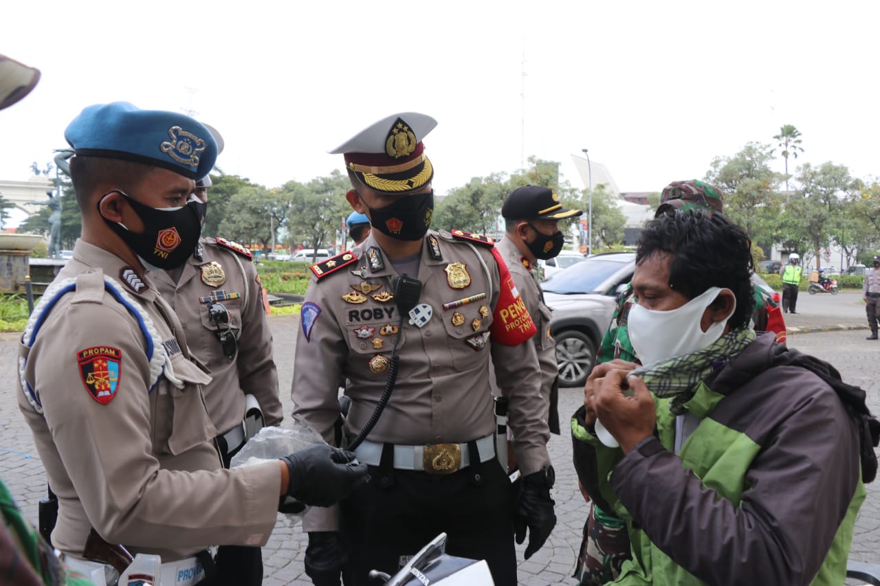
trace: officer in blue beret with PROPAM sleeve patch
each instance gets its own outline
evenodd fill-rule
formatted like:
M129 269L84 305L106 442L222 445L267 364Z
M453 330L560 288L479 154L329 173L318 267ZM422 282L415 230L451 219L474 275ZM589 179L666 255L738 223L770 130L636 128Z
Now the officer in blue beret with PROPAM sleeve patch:
M204 207L191 195L216 160L209 131L114 102L86 107L65 137L82 236L18 353L18 407L58 495L53 543L87 565L93 530L161 555L163 582L194 583L213 566L208 546L267 541L280 495L326 506L365 471L326 445L222 468L202 397L210 377L144 275L180 266L198 241Z

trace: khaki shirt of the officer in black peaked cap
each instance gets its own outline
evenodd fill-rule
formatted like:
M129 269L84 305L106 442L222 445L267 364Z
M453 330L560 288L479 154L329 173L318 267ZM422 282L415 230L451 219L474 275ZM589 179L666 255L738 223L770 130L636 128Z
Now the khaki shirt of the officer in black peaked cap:
M517 290L520 297L523 298L525 308L529 310L532 321L538 328L538 333L534 335L532 341L535 344L535 351L538 353L538 363L541 369L541 395L546 401L544 420L547 421L550 415L550 392L559 375L559 370L556 367L556 342L550 335L551 311L542 301L543 295L538 283L538 275L535 271L530 271L524 266L523 253L519 252L517 245L510 238L504 236L497 246L502 253L504 262L510 269L510 275L513 275L513 282L517 283Z

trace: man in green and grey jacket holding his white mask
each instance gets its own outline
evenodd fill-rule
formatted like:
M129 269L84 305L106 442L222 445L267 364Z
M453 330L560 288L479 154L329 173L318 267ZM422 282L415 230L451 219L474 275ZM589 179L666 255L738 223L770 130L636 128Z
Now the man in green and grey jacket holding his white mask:
M749 245L700 210L642 231L645 366L598 365L573 421L579 476L632 541L614 583L844 581L880 423L831 365L756 338Z

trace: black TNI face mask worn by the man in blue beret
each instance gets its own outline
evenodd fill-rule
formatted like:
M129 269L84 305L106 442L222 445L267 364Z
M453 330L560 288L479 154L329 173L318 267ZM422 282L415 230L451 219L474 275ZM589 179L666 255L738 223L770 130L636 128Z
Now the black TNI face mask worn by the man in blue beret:
M141 218L143 232L130 231L121 223L106 218L104 221L141 260L150 267L164 270L180 267L187 261L202 234L201 201L192 197L180 208L150 208L119 190L108 192L104 197L117 193L125 195L128 205ZM100 210L100 201L98 207Z

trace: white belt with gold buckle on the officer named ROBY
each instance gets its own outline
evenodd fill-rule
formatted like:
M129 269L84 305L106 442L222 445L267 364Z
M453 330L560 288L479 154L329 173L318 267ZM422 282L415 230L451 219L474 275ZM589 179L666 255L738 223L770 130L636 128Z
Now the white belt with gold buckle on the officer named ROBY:
M365 440L357 446L355 455L359 462L378 466L382 460L385 443ZM495 458L495 436L480 437L477 440L480 461ZM449 474L471 465L470 450L467 443L433 443L430 445L395 445L394 468L415 470L432 474Z

